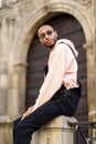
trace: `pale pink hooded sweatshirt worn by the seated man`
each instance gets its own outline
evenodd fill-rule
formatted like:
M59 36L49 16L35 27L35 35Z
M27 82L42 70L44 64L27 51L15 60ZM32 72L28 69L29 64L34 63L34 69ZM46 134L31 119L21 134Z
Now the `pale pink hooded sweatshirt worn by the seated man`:
M47 62L49 72L40 89L40 94L33 111L51 100L62 84L64 84L67 90L77 86L77 62L71 48L61 42L70 44L75 55L78 55L78 52L70 40L61 39L56 42L50 52Z

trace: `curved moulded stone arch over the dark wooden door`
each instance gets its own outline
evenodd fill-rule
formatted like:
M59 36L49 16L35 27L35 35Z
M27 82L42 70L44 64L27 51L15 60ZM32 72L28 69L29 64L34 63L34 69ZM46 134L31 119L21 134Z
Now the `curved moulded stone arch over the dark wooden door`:
M43 23L45 19L47 19L49 14L51 16L52 13L55 13L55 12L65 12L75 17L81 23L81 25L83 27L86 42L87 43L92 42L90 23L89 23L88 17L86 17L89 13L83 12L83 9L79 4L77 7L75 6L74 8L73 2L72 3L70 2L50 3L47 7L44 6L34 10L29 16L26 21L23 23L19 32L19 35L15 39L15 43L12 50L11 61L10 61L12 65L14 63L17 64L25 63L29 43L31 39L33 38L38 27L40 25L41 19ZM23 51L23 55L22 55L22 51Z

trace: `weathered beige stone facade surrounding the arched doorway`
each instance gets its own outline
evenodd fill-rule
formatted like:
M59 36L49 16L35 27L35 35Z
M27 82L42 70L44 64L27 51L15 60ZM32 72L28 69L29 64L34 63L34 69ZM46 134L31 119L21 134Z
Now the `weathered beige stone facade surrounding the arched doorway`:
M83 27L87 54L88 117L96 121L96 1L1 0L0 144L12 144L11 137L9 141L12 121L24 111L29 43L39 25L54 12L74 16Z

